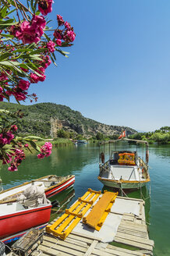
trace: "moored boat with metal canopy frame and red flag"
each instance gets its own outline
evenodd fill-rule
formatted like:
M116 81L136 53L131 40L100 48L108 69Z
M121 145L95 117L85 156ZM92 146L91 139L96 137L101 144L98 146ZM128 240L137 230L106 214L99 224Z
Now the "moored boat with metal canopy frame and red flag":
M101 153L101 163L99 165L100 173L97 177L107 187L119 189L140 189L150 181L148 172L148 143L146 140L131 140L121 138L119 140L110 140L107 143L116 144L122 140L135 142L136 144L146 145L146 161L138 156L137 151L111 151L109 158L104 162L104 152ZM105 142L101 143L105 144Z

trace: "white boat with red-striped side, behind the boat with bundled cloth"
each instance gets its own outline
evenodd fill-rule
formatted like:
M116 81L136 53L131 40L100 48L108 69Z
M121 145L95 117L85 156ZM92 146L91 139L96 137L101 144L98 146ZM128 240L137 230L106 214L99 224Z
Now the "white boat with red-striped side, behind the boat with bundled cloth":
M74 175L68 176L55 176L48 175L41 177L37 180L31 180L25 182L19 186L11 187L7 190L2 190L0 192L0 204L5 204L9 202L14 202L23 193L23 190L26 190L27 187L30 187L30 184L37 185L39 187L44 187L44 192L47 198L58 194L59 192L66 190L68 187L73 186L75 182Z

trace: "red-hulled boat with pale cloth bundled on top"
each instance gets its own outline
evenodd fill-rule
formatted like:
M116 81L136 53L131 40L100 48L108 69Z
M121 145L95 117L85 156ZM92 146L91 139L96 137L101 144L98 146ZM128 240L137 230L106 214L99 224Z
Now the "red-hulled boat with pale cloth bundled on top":
M51 201L46 199L44 188L31 186L23 191L19 201L1 204L0 240L16 237L18 233L32 227L46 226L51 215Z

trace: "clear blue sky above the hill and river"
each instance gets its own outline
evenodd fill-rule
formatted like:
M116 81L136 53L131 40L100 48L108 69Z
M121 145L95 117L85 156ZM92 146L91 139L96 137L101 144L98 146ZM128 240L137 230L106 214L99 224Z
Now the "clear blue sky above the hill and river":
M31 86L37 102L136 130L170 126L169 0L55 0L52 27L57 14L76 40L69 59L57 55L58 68Z

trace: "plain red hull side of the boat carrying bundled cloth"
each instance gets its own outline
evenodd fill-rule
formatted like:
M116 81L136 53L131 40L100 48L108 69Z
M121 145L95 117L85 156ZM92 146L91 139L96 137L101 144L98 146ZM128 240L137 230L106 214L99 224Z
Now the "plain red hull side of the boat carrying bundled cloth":
M51 204L0 216L0 239L49 221Z

